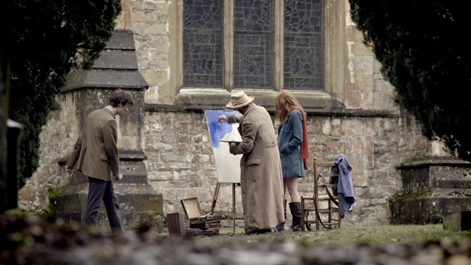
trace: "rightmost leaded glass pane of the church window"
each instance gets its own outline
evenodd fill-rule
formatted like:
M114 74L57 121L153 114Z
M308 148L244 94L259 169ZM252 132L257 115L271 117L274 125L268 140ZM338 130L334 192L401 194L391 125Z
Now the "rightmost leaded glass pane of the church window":
M285 0L285 89L323 89L322 0Z

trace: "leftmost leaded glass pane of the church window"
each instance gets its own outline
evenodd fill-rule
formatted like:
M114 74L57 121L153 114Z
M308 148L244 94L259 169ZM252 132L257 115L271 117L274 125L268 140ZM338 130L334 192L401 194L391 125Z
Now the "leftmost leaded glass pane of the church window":
M183 85L222 85L222 1L184 0Z

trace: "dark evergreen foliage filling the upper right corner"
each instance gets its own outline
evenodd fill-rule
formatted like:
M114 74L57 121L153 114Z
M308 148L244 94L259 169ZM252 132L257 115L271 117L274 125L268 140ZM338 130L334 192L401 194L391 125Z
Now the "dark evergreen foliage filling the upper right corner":
M471 49L467 1L349 0L397 101L430 140L471 161Z

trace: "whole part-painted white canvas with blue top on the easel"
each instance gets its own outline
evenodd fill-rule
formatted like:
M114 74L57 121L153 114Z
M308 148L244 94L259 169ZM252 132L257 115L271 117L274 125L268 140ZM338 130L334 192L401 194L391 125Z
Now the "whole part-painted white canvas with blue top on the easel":
M239 123L229 124L218 122L221 114L226 116L240 112L225 110L204 110L209 130L212 153L216 164L216 175L219 183L240 183L241 182L241 158L242 155L232 155L229 153L228 142L241 142L242 137L237 130Z

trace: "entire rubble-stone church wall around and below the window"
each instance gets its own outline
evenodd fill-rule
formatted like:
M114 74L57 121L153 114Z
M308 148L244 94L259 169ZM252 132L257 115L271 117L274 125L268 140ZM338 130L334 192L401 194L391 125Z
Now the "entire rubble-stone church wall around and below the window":
M353 166L357 203L346 225L386 224L387 199L401 188L395 165L425 156L431 145L415 121L394 103L393 88L383 79L371 49L362 43L362 34L348 18L348 1L344 2L346 89L338 97L346 110L308 113L311 155L326 161L343 153ZM139 71L149 84L144 126L149 183L163 194L164 213L183 212L179 200L189 197L197 197L203 211L208 212L216 175L204 114L178 106L158 107L172 105L175 98L170 89L169 23L177 19L172 13L174 3L123 0L122 5L117 28L134 32ZM67 179L57 162L72 150L76 136L68 135L68 131L76 121L70 112L79 106L64 95L57 101L61 107L51 113L41 134L40 167L20 191L21 208L28 211L47 209L48 190L64 185ZM302 194L312 189L312 172L299 181L299 188ZM240 188L236 200L240 215ZM230 185L222 185L216 212L229 214L231 203Z

